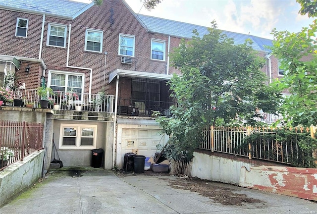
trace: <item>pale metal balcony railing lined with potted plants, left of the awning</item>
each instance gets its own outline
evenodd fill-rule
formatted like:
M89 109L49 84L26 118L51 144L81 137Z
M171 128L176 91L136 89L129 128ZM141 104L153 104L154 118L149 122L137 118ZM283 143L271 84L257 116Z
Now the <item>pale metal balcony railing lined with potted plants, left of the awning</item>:
M67 92L68 93L68 92ZM49 108L54 110L81 110L113 112L113 95L72 93L69 94L60 91L53 91L49 97ZM18 89L12 93L12 98L22 100L18 107L41 107L36 89ZM5 105L16 106L15 103L6 102Z

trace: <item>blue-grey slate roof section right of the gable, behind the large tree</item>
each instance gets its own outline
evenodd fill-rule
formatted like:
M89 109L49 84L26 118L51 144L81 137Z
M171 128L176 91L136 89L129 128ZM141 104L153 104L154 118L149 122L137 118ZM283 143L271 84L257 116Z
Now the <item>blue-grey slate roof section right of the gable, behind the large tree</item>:
M170 36L175 36L179 38L192 38L193 30L196 29L200 35L208 34L208 27L189 24L185 22L173 21L169 19L163 19L148 15L139 14L138 17L149 29L150 32L160 33ZM234 39L234 44L243 44L246 39L251 39L253 44L251 45L254 50L257 51L269 51L265 49L264 45L271 46L272 41L269 39L264 39L252 35L234 33L230 31L222 31L229 38Z

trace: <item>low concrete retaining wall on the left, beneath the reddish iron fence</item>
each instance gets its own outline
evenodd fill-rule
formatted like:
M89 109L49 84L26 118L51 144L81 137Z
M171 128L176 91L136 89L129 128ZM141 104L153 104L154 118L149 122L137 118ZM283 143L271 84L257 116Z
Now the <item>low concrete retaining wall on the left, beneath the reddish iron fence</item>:
M35 152L0 171L0 207L42 177L45 150Z

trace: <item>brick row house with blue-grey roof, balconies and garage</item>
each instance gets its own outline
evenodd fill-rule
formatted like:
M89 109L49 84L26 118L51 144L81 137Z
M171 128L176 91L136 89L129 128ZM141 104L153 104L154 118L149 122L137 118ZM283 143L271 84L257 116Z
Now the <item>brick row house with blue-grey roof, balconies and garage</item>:
M45 169L53 140L68 166L90 165L91 150L99 148L105 169L122 168L128 152L154 155L168 137L151 114L170 114L174 103L166 82L180 74L170 66L168 53L182 38L190 39L193 29L208 33L207 27L137 15L124 0L104 0L100 6L0 0L0 20L0 86L4 75L14 72L23 83L24 102L34 103L34 108L1 106L0 118L45 124ZM266 58L268 82L282 74L278 60L264 48L271 40L224 33L236 44L254 42ZM36 89L44 84L53 89L52 102L59 107L37 108ZM67 103L69 91L76 94L72 103Z

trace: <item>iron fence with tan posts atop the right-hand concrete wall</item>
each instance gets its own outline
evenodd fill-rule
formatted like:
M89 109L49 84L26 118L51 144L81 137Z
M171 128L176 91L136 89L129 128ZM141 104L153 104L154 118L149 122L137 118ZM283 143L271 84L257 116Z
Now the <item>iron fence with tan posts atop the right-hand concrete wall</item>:
M314 126L313 126L314 127ZM279 132L282 128L267 127L213 127L204 130L205 139L200 149L211 150L249 159L271 160L297 166L313 165L315 153L302 149L303 141L314 138L314 128L288 128L288 137ZM284 132L286 129L283 129ZM281 137L282 136L282 137ZM304 136L304 137L303 137Z

